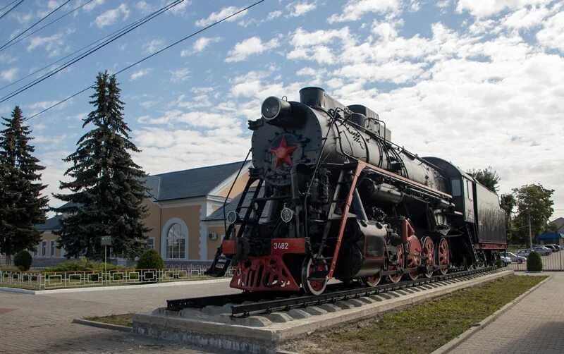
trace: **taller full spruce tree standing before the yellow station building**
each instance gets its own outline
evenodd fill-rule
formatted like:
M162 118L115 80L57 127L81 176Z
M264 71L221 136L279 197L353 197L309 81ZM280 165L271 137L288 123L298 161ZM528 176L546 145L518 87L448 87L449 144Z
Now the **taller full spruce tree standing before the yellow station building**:
M145 248L149 229L143 224L148 214L143 200L147 188L146 175L133 162L130 152L140 150L130 141L123 121L123 102L114 76L99 73L90 96L94 110L85 118L82 128L92 130L78 140L75 152L65 162L72 166L66 171L70 182L61 182L57 194L60 200L70 202L59 209L61 219L59 246L67 257L84 255L95 260L104 257L100 245L102 236L111 236L114 256L133 258Z

